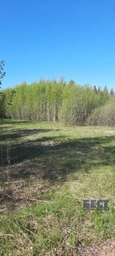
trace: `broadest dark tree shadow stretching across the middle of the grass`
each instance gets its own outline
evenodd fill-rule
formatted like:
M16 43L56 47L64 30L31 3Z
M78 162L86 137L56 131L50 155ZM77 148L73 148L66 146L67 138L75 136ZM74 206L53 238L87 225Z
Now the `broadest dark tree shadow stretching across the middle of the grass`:
M29 179L33 175L54 183L65 181L68 174L80 170L89 172L91 168L115 164L115 146L113 144L110 146L110 143L115 141L114 136L62 142L64 139L64 136L43 137L18 145L12 144L10 179ZM7 155L4 144L2 165L6 164ZM7 179L2 171L0 177L1 182Z

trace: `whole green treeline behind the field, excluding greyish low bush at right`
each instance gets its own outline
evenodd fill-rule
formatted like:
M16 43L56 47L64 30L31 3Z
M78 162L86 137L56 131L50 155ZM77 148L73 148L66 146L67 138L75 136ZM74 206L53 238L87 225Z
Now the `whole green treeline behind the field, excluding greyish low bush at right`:
M12 104L9 105L9 98ZM32 121L61 121L65 125L84 125L94 109L107 104L115 104L113 89L102 90L96 86L78 85L74 80L68 83L61 77L27 84L23 82L13 88L3 91L0 97L0 117L32 120Z

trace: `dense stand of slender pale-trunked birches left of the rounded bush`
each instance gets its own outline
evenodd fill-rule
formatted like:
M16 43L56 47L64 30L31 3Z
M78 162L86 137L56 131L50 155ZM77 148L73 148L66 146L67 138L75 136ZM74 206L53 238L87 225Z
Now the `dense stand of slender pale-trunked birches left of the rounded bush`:
M32 121L58 121L64 86L62 79L57 83L55 79L45 81L42 78L38 83L16 85L13 88L16 97L12 97L12 105L6 110L6 116ZM11 92L12 88L5 90L7 103Z

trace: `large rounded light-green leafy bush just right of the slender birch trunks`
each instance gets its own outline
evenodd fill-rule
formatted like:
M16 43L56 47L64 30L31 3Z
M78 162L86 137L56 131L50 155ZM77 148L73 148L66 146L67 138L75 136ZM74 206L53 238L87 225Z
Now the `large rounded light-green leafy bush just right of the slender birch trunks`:
M63 90L59 120L65 125L83 125L92 109L100 104L100 98L92 87L69 82Z

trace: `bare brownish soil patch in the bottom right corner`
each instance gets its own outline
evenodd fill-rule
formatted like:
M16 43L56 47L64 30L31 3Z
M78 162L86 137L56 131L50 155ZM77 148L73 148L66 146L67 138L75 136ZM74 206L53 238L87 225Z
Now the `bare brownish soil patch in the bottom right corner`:
M77 247L79 256L115 256L115 240L107 240L103 244L94 245L93 247Z

